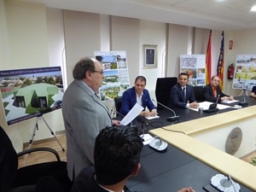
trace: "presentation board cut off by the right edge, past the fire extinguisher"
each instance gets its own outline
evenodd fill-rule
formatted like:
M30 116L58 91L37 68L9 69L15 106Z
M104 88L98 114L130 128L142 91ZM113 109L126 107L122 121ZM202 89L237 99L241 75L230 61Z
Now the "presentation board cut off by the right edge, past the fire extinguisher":
M256 55L236 55L233 89L252 90L256 86Z

